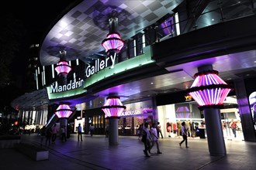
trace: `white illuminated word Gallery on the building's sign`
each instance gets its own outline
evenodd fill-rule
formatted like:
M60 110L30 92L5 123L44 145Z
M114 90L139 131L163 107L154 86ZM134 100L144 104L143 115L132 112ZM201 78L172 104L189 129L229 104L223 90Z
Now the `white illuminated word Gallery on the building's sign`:
M115 53L114 56L110 56L110 57L108 56L104 60L96 59L95 60L95 65L87 66L86 70L85 70L86 77L92 76L92 74L97 73L98 71L105 69L108 66L109 59L112 62L111 66L114 66L115 65L115 60L116 60L116 53Z

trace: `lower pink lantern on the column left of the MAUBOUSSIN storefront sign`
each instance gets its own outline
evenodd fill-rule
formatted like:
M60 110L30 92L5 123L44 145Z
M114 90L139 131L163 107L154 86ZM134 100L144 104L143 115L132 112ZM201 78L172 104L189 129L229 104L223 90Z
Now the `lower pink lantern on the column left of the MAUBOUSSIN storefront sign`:
M106 117L120 117L124 109L126 109L126 107L123 106L119 97L108 97L102 107Z

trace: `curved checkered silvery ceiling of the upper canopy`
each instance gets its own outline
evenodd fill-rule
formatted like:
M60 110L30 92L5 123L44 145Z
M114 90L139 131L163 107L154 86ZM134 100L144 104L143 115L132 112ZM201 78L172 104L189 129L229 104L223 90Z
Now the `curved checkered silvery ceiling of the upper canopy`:
M43 66L57 63L59 51L67 51L67 60L81 59L90 63L104 51L101 42L109 33L108 20L118 18L118 32L123 40L130 39L154 24L182 0L164 1L97 1L87 0L71 8L43 40L40 61Z

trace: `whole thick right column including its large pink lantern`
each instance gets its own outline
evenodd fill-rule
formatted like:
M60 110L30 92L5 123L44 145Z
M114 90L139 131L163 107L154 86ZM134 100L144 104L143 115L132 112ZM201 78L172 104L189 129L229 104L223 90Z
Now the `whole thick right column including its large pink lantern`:
M198 67L199 73L195 73L195 81L189 90L189 95L199 104L203 110L206 121L206 132L209 146L209 154L212 156L227 155L223 137L220 107L227 97L231 87L218 76L219 72L213 70L212 65Z

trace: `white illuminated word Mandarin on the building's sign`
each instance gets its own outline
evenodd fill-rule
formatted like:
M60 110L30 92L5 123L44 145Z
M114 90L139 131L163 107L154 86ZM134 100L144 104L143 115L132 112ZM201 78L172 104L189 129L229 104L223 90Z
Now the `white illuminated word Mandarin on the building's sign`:
M84 80L80 80L80 79L76 82L70 80L68 84L61 85L61 86L58 86L57 83L53 83L52 85L50 85L50 93L58 93L66 90L74 90L79 87L82 87L83 84L84 84Z

